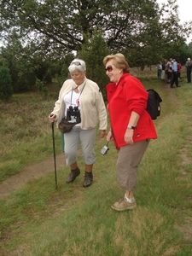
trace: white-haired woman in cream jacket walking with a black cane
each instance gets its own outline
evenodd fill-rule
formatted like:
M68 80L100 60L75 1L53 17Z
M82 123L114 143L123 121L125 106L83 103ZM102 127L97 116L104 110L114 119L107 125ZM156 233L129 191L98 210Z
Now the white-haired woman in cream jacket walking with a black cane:
M70 115L75 121L73 110L78 109L80 123L73 126L72 131L65 133L65 154L67 166L71 167L66 182L73 183L79 176L77 150L79 141L84 160L84 188L93 180L93 163L96 160L94 146L96 140L96 125L100 123L100 137L105 136L107 129L107 111L98 85L85 76L86 66L83 60L75 59L68 67L72 79L67 79L61 87L55 108L49 115L49 122L57 121L57 127L63 117Z

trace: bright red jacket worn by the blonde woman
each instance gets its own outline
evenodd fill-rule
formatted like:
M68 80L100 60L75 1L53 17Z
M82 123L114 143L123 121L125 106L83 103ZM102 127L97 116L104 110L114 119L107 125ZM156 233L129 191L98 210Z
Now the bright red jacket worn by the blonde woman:
M127 125L129 125L131 111L140 115L133 134L134 143L157 138L153 120L145 110L148 92L138 79L129 73L124 73L117 85L115 83L107 85L107 96L111 128L117 148L127 145L124 136Z

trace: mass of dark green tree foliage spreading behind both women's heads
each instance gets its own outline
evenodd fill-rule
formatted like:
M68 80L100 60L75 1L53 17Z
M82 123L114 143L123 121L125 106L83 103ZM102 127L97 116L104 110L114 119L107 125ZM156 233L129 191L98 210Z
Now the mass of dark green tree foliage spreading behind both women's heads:
M164 58L184 60L191 31L192 22L180 24L177 0L162 6L155 0L0 1L0 54L14 92L32 90L36 78L61 84L77 54L104 93L102 58L108 52L122 52L131 67L142 69Z

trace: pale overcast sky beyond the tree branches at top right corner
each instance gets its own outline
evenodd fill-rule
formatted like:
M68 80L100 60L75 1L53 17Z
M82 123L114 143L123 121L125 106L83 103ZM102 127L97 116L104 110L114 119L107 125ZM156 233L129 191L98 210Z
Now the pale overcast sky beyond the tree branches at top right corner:
M166 3L166 0L157 0L157 3ZM177 0L179 18L181 23L192 20L192 0ZM192 40L192 34L187 38L187 44Z

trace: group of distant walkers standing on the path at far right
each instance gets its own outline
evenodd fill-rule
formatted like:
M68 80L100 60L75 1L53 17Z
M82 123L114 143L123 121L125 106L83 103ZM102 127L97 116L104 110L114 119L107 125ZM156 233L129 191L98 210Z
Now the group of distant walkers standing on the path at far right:
M191 69L192 61L190 58L187 59L186 64L186 73L187 73L187 82L191 83ZM167 84L170 84L170 87L173 88L173 84L176 84L176 87L180 87L178 82L181 79L182 65L181 62L177 59L166 59L161 62L159 61L157 65L157 78L165 81Z

